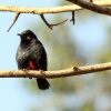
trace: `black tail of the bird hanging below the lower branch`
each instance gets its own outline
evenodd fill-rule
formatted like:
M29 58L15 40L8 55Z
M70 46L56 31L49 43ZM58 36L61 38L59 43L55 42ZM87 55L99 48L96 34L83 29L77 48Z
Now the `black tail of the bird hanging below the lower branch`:
M41 89L41 90L47 90L50 87L47 79L37 79L37 83L38 83L39 89Z

